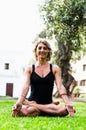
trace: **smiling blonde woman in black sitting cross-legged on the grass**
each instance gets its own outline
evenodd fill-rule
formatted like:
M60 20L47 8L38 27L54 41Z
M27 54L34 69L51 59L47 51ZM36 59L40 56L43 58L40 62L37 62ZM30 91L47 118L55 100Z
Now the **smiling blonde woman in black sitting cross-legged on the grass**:
M36 41L34 53L36 63L26 70L26 81L18 101L13 106L12 116L66 116L69 114L74 117L75 110L62 84L60 68L49 63L52 54L50 44L44 39ZM65 106L52 101L54 82ZM30 87L31 93L26 100Z

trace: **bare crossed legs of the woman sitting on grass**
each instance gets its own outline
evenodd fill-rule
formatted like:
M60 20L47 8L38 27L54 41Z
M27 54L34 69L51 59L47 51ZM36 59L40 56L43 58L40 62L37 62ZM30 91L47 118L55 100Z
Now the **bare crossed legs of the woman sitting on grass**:
M37 104L35 101L25 100L24 105L22 105L20 110L13 110L12 116L39 116L39 115L49 115L49 116L66 116L68 111L65 106L56 104Z

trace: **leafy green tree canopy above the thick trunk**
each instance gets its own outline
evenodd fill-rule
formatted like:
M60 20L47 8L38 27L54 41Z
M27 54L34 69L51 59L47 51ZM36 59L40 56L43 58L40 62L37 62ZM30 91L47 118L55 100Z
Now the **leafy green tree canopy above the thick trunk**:
M40 12L46 25L46 37L52 39L54 35L58 42L59 36L66 46L70 46L72 53L84 52L85 0L45 0Z

